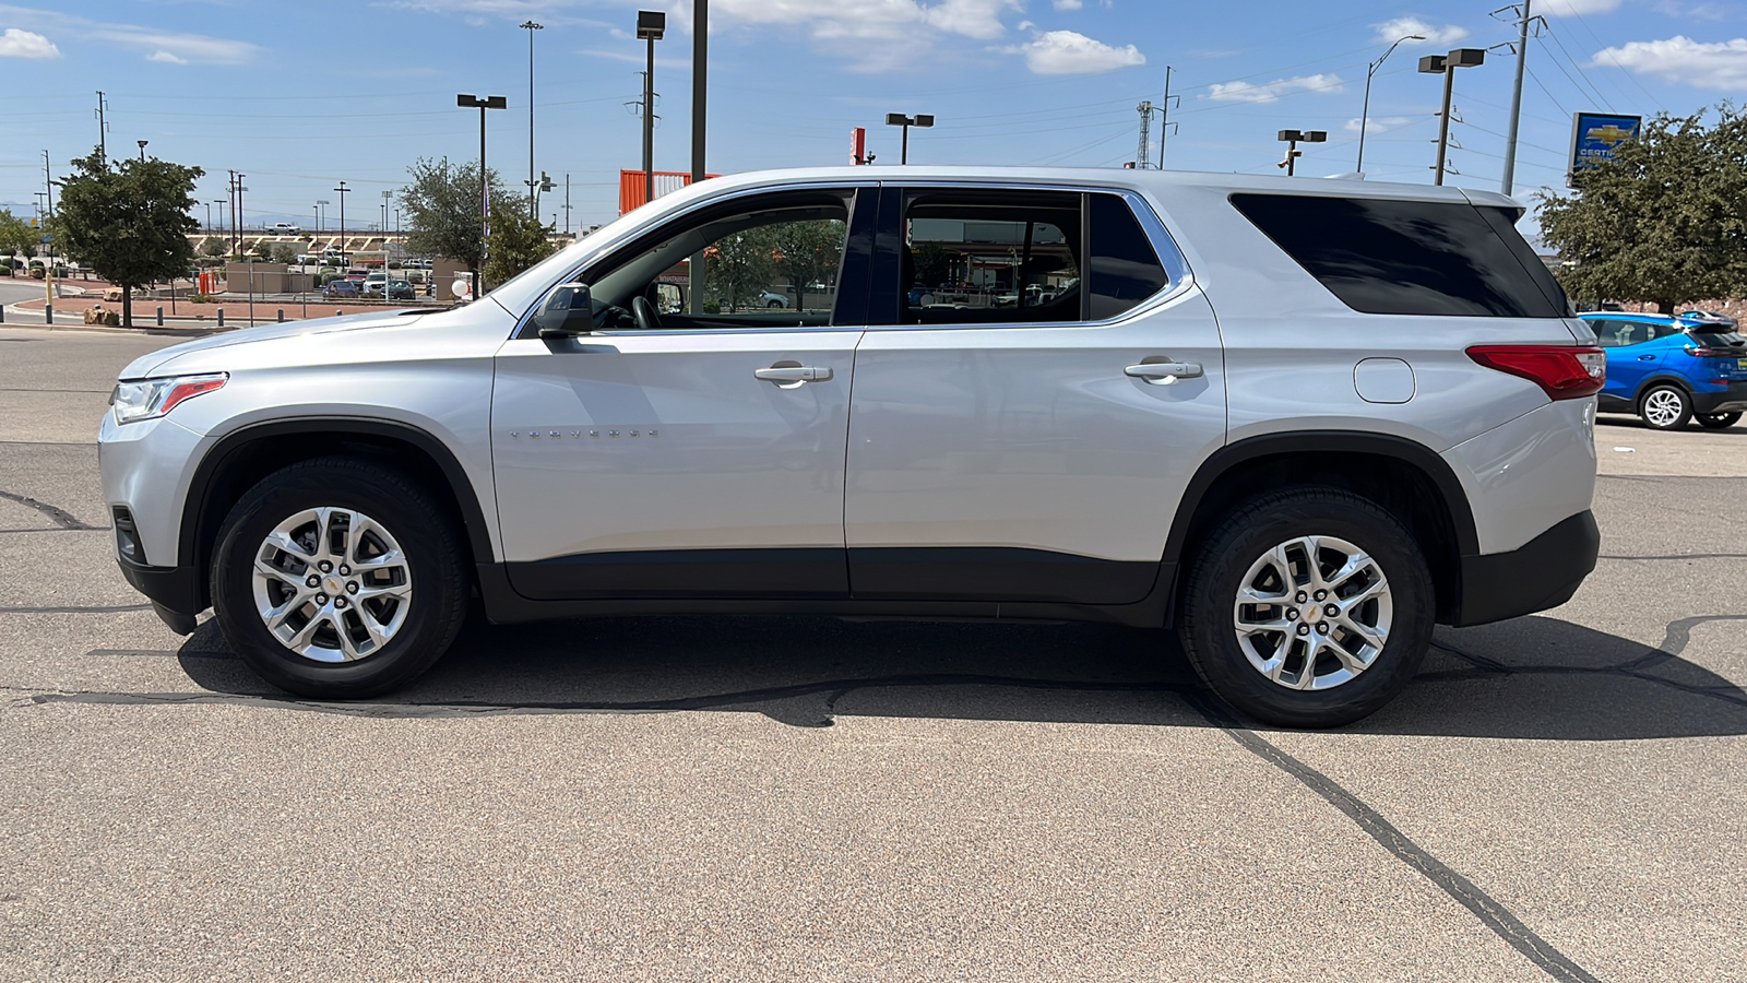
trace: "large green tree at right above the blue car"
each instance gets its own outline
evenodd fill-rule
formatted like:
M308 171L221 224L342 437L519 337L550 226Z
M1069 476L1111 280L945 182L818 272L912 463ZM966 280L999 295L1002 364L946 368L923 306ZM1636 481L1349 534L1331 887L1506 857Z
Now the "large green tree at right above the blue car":
M1703 117L1649 119L1572 177L1574 196L1537 196L1567 292L1674 313L1747 289L1747 115L1724 103L1716 126Z

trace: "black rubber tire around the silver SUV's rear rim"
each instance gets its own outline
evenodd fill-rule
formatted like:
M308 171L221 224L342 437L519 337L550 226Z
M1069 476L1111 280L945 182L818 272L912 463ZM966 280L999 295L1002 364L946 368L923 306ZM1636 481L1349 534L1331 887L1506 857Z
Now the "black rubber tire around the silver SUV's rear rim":
M1328 689L1302 691L1268 679L1249 661L1233 609L1251 565L1307 535L1338 537L1370 554L1394 610L1387 638L1366 668ZM1380 505L1331 488L1282 490L1228 512L1190 556L1181 602L1177 633L1202 680L1239 712L1288 728L1336 728L1377 712L1413 679L1431 644L1431 568L1413 537ZM1286 617L1284 605L1274 610ZM1293 610L1291 617L1300 614ZM1321 656L1317 665L1336 665L1329 659ZM1322 675L1315 666L1309 672Z

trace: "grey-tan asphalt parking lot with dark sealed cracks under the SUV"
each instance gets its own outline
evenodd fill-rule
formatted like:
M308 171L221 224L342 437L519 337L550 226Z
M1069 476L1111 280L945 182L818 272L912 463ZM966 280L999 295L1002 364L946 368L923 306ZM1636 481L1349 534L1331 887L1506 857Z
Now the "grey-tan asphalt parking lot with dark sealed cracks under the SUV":
M1744 980L1747 425L1604 418L1604 558L1331 733L1157 631L470 626L269 691L112 560L155 336L0 329L0 980Z

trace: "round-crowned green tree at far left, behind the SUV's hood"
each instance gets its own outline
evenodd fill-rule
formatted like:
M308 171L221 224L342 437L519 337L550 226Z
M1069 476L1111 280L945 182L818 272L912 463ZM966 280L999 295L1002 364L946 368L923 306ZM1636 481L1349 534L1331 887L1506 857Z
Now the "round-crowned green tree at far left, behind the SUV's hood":
M98 150L73 161L54 217L56 245L121 287L121 320L133 327L133 292L194 266L189 233L194 182L206 173L159 157L110 166Z

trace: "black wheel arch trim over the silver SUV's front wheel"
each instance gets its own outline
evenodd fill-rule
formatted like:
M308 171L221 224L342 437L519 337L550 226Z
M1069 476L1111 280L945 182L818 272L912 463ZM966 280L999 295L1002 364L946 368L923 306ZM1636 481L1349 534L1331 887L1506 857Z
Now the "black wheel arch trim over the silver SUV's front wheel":
M337 437L337 441L335 441ZM411 423L367 416L311 416L241 427L201 458L189 481L178 532L180 565L196 579L196 603L211 598L211 551L231 507L257 481L299 460L353 453L374 457L423 479L465 532L472 561L491 561L491 528L479 493L454 453Z

